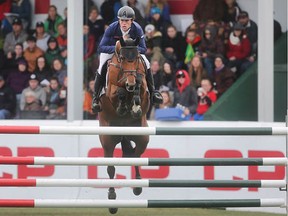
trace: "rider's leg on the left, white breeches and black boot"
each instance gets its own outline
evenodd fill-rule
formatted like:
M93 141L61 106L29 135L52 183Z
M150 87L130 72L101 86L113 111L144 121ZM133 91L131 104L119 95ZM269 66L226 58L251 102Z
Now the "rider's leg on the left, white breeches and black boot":
M108 59L112 57L113 54L107 54L107 53L101 53L99 56L99 68L96 71L95 74L95 84L94 84L94 94L93 94L93 101L92 101L92 111L94 113L101 112L101 106L100 106L100 94L102 91L102 88L104 87L104 78L101 75L102 68L104 64L107 62Z

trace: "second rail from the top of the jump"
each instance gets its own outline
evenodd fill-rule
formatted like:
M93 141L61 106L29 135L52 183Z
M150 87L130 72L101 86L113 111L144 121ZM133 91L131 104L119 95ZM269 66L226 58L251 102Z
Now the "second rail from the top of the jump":
M287 158L86 158L0 156L0 164L98 166L285 166L287 165Z

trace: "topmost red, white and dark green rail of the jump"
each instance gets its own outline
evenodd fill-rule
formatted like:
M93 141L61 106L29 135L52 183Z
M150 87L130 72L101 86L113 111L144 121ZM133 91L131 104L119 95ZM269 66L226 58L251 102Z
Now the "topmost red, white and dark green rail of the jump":
M0 126L0 134L62 135L287 135L287 127Z

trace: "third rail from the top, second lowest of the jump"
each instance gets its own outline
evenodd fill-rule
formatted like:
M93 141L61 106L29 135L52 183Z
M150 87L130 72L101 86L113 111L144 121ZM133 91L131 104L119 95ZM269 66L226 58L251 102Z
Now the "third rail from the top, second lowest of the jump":
M284 180L0 179L0 187L255 187L284 188Z

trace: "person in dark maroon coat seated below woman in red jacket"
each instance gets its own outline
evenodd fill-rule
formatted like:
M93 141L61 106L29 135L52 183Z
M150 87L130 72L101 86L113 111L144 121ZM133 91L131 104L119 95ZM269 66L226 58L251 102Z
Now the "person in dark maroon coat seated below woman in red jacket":
M225 66L224 58L221 55L217 55L215 58L215 70L213 71L213 83L215 83L217 97L220 98L225 91L235 81L235 74L229 67Z

